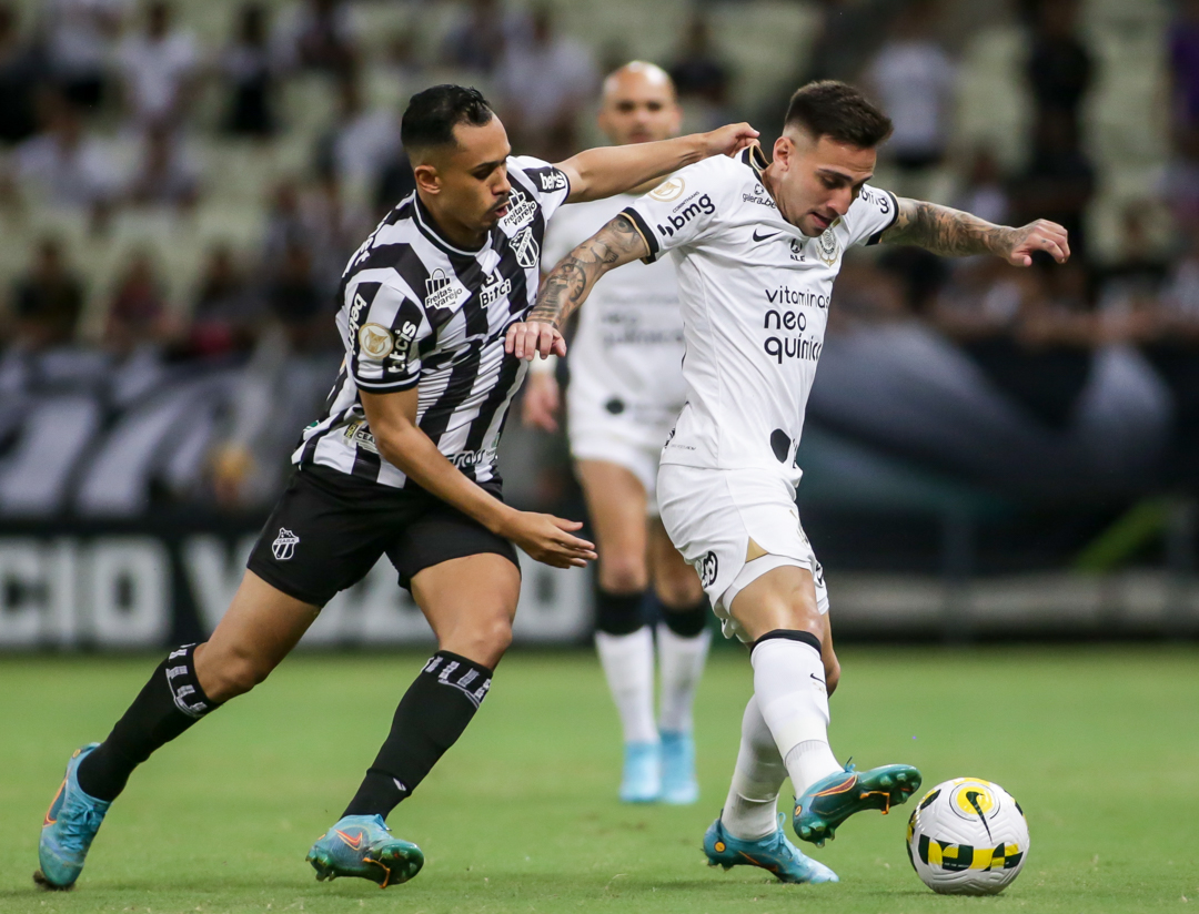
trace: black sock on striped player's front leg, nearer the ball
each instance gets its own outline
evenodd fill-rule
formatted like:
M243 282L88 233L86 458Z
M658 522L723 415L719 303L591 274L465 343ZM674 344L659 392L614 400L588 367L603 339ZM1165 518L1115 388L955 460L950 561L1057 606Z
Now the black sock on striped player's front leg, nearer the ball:
M400 698L387 739L342 815L386 818L458 740L490 688L486 666L448 650L430 656Z

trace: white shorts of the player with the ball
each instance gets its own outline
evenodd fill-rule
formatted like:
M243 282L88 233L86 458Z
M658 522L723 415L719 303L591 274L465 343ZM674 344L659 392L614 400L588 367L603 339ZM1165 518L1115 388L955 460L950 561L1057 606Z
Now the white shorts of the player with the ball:
M729 607L742 589L782 565L811 571L817 609L829 612L824 569L800 525L795 490L787 479L765 470L663 464L658 506L670 541L699 573L725 637L749 640ZM751 540L766 555L746 561Z

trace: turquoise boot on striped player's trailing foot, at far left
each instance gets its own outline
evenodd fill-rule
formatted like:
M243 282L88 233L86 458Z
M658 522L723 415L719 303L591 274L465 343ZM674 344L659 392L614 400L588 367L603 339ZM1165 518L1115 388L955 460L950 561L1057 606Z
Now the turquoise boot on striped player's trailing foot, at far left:
M34 873L34 882L43 889L62 890L74 885L83 872L88 848L104 821L104 813L113 805L84 793L76 776L79 763L98 745L89 743L74 751L67 762L62 785L46 811L42 839L37 842L42 868Z

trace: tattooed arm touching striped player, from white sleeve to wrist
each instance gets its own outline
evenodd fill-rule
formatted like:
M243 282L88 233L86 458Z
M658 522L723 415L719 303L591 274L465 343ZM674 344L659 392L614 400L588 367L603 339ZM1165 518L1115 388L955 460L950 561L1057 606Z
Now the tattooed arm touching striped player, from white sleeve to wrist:
M571 313L586 301L600 277L649 254L650 248L637 226L627 216L617 216L550 271L541 284L529 320L561 328Z

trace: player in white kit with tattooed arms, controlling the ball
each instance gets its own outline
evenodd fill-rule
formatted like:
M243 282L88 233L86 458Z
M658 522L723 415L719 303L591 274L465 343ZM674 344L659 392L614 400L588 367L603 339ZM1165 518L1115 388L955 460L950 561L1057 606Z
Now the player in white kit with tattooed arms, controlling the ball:
M675 172L576 248L546 279L514 355L565 352L558 332L608 270L669 252L686 328L687 405L663 449L662 520L700 573L727 634L751 647L754 696L710 862L753 864L795 880L836 878L790 845L775 815L783 779L793 827L820 846L849 816L887 811L918 786L910 765L842 768L829 746L827 694L839 667L824 574L800 526L796 446L827 322L832 283L851 244L918 244L935 254L994 254L1029 266L1070 256L1066 231L1013 229L870 187L891 122L843 83L791 98L773 161L747 150Z

